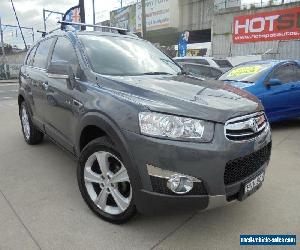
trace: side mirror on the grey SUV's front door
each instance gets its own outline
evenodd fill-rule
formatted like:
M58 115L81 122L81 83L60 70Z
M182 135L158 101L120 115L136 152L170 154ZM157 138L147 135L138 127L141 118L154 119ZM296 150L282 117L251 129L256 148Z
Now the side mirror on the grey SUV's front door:
M71 65L66 61L53 61L50 63L47 75L49 78L70 79L73 76Z

